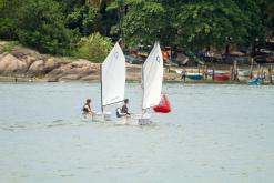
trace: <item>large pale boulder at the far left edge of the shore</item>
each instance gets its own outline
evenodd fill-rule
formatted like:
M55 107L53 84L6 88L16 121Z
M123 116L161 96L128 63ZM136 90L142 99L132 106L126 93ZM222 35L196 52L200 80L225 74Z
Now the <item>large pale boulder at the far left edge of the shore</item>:
M27 63L12 54L6 54L0 59L0 74L2 75L24 74L27 69Z

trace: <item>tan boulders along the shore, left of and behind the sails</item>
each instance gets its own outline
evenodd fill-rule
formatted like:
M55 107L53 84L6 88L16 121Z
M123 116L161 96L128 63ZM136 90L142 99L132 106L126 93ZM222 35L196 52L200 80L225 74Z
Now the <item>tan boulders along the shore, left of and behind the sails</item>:
M175 73L166 73L164 80L179 80ZM98 81L100 63L83 59L58 58L40 54L31 49L16 47L0 54L0 81ZM126 63L126 80L141 80L141 65Z

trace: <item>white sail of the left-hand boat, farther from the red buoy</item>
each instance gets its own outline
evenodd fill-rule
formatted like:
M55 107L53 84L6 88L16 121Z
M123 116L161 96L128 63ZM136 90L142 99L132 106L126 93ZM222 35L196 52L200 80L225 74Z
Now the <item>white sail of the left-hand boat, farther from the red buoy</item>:
M102 63L102 105L124 100L125 58L119 43L115 43Z

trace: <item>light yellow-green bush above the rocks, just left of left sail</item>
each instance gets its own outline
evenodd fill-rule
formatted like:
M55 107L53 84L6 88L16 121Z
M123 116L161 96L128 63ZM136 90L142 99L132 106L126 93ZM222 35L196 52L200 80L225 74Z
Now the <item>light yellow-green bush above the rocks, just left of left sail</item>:
M93 33L81 39L73 55L92 62L103 62L112 47L113 44L109 38L102 37L100 33Z

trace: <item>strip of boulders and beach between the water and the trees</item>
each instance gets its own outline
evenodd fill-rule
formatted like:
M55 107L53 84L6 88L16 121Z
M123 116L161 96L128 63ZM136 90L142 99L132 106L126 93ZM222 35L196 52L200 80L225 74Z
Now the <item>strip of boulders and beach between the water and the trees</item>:
M7 47L3 47L7 44ZM32 49L1 42L0 44L0 82L58 82L58 81L100 81L100 64L84 59L69 57L52 57L41 54ZM126 81L141 82L140 64L126 63ZM217 64L201 67L165 67L164 82L184 83L211 83L211 84L246 84L250 77L242 77L237 80L216 81L207 72L214 68L214 72L231 74L231 65ZM240 69L248 70L250 65L239 65ZM183 80L181 72L199 73L202 80ZM264 75L265 84L270 83L267 68L253 69L253 75Z

